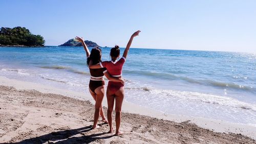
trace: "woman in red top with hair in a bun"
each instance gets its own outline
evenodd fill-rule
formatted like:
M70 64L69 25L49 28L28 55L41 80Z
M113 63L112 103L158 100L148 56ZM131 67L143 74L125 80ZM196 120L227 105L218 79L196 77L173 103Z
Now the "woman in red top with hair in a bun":
M107 71L109 74L113 77L116 78L122 78L122 67L123 64L126 60L126 56L128 54L128 51L130 49L130 46L132 44L133 38L138 36L140 31L135 32L129 42L127 43L127 46L123 52L123 56L121 59L117 61L117 59L120 56L120 50L119 46L116 45L111 49L110 56L111 56L111 61L104 61L96 65L90 65L90 68L103 68L105 67L106 70L104 73ZM124 97L124 88L123 84L120 82L114 82L112 80L109 81L108 88L106 89L106 98L108 99L108 121L109 121L109 126L110 126L110 133L113 132L113 127L112 127L112 112L113 112L113 107L114 107L114 101L116 100L116 135L120 135L123 132L119 130L120 128L120 123L121 123L121 108L122 108L122 102L123 102L123 97Z

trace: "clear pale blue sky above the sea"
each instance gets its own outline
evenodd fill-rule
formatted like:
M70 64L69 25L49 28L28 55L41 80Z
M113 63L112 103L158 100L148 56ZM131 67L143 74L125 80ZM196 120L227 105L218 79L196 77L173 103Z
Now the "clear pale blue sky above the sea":
M0 27L26 27L46 45L75 36L101 46L256 53L256 1L0 0Z

